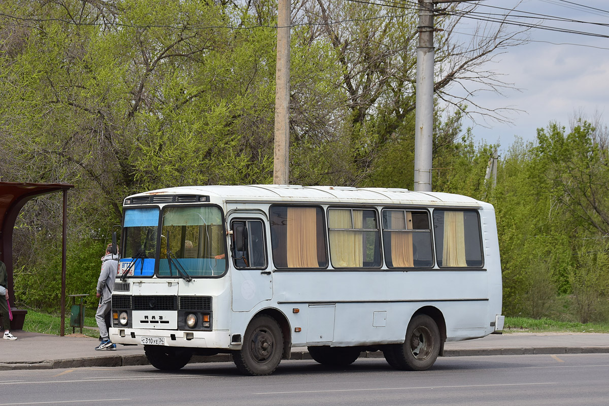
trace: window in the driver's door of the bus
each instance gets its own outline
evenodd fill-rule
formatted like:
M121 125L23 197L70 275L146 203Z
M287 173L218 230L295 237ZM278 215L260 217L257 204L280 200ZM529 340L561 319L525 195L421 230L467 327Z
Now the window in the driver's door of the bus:
M264 223L260 220L241 220L233 222L231 228L233 229L234 266L241 269L266 268Z

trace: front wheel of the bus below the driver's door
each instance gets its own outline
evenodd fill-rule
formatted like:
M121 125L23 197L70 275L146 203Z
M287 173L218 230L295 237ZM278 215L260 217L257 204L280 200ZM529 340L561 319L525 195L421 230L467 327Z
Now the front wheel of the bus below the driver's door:
M234 364L245 375L270 375L281 362L283 334L277 321L267 315L253 318L245 330L241 350L233 353Z

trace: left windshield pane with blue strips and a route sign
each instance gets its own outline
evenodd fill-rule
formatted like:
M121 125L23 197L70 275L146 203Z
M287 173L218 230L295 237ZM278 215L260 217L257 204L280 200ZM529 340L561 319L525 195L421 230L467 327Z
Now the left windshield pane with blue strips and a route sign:
M125 209L123 276L152 276L157 253L158 208Z

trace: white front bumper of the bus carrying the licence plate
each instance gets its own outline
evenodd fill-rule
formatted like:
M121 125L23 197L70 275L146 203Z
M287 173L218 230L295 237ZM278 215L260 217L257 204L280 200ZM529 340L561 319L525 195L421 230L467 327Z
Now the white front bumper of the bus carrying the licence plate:
M170 347L241 349L231 344L228 331L179 331L156 329L110 328L110 341L128 345L164 345Z

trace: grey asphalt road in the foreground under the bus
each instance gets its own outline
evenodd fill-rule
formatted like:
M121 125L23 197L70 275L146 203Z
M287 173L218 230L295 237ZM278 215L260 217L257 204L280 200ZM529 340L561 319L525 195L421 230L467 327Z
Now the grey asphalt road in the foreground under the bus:
M440 358L425 372L384 359L333 370L283 361L272 376L232 363L0 371L2 405L607 405L609 354Z

